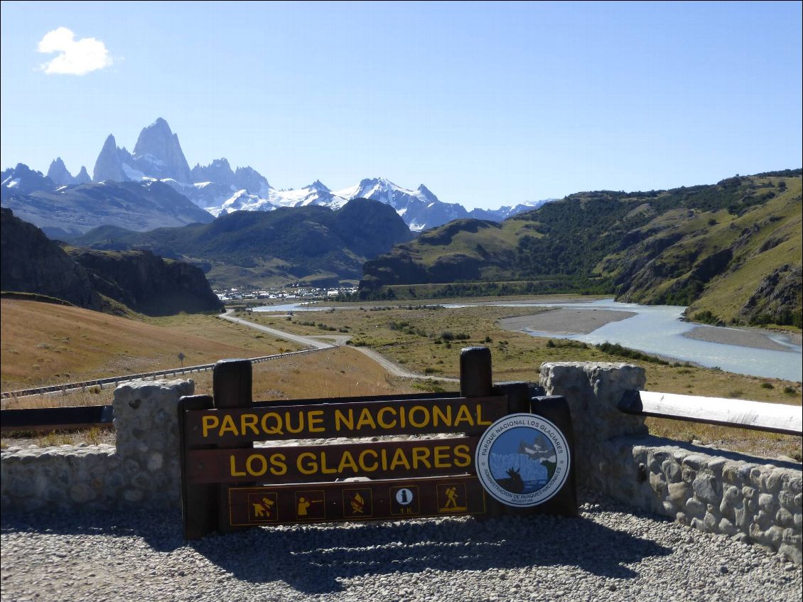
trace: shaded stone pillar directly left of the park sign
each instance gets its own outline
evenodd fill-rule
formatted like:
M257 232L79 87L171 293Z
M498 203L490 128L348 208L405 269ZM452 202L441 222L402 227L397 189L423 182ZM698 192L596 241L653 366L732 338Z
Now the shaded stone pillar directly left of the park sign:
M177 404L179 397L192 395L194 389L192 380L133 380L116 388L120 502L181 507Z

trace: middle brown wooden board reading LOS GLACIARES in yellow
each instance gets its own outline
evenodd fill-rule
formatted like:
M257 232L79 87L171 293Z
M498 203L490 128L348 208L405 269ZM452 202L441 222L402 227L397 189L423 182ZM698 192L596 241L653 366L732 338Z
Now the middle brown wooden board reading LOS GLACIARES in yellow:
M253 449L188 449L192 484L320 482L474 473L477 437L282 445Z

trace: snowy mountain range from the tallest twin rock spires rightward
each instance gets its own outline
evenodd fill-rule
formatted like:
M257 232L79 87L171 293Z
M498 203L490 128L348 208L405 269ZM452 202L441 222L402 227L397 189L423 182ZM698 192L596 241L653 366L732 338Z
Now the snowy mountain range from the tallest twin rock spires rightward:
M533 205L516 205L468 212L463 205L440 201L425 185L410 190L381 177L368 178L341 190L331 190L317 180L302 189L277 190L251 167L231 169L225 157L190 169L178 136L161 117L142 130L133 153L118 148L110 134L97 158L92 180L160 180L215 217L232 211L272 211L279 207L306 205L340 209L355 198L369 198L393 207L410 230L415 231L441 226L459 218L500 221L534 208Z

